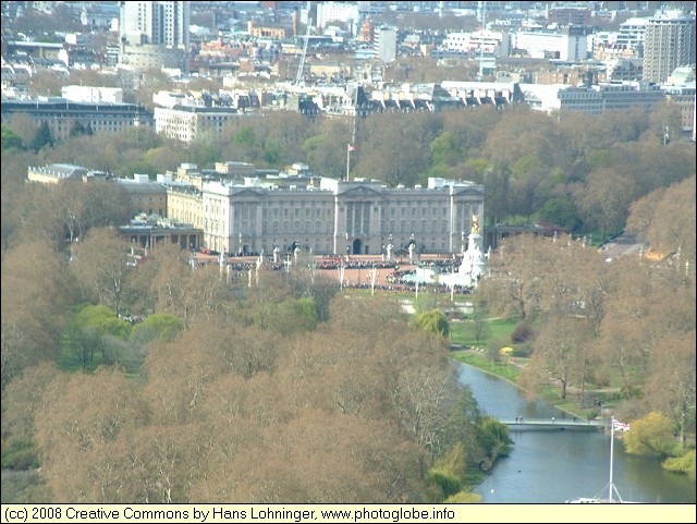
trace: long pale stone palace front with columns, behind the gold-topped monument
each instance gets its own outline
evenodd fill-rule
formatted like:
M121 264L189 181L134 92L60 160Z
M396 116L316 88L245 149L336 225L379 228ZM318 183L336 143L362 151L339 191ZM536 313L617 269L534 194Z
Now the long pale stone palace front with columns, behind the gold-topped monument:
M294 246L316 255L375 255L416 244L420 253L462 253L473 217L484 219L484 187L429 179L428 186L322 178L305 187L208 182L201 188L204 243L231 255Z

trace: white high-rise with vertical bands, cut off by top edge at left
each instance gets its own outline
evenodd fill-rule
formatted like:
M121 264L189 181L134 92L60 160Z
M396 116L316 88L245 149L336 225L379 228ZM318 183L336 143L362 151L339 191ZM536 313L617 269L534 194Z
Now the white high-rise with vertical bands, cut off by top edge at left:
M121 64L188 70L188 1L122 1L119 5Z

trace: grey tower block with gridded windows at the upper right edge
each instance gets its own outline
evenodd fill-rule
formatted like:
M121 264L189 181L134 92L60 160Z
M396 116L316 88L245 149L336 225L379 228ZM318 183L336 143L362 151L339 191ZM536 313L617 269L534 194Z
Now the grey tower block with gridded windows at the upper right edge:
M663 83L675 68L695 63L695 15L657 14L647 22L644 40L644 80Z

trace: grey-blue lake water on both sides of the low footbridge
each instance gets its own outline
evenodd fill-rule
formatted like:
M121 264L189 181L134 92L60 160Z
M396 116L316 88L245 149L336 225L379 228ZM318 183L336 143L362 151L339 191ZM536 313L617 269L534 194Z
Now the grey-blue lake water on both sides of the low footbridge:
M480 410L497 418L563 419L563 412L528 402L513 385L472 366L460 365ZM606 496L610 479L610 437L603 431L512 431L511 454L474 491L490 503L560 503ZM625 500L695 503L695 483L661 468L657 459L627 455L615 440L614 485Z

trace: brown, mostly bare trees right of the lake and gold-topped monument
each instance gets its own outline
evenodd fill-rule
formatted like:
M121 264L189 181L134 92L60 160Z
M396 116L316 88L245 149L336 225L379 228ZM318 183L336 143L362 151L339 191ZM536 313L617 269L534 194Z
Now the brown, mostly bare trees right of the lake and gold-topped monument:
M610 388L625 417L658 411L683 443L694 434L694 195L693 175L633 206L628 229L665 249L660 261L627 255L608 263L568 237L510 239L496 253L480 296L528 327L518 331L530 356L525 388L538 391L551 376L561 399L573 393L584 406L588 389Z

